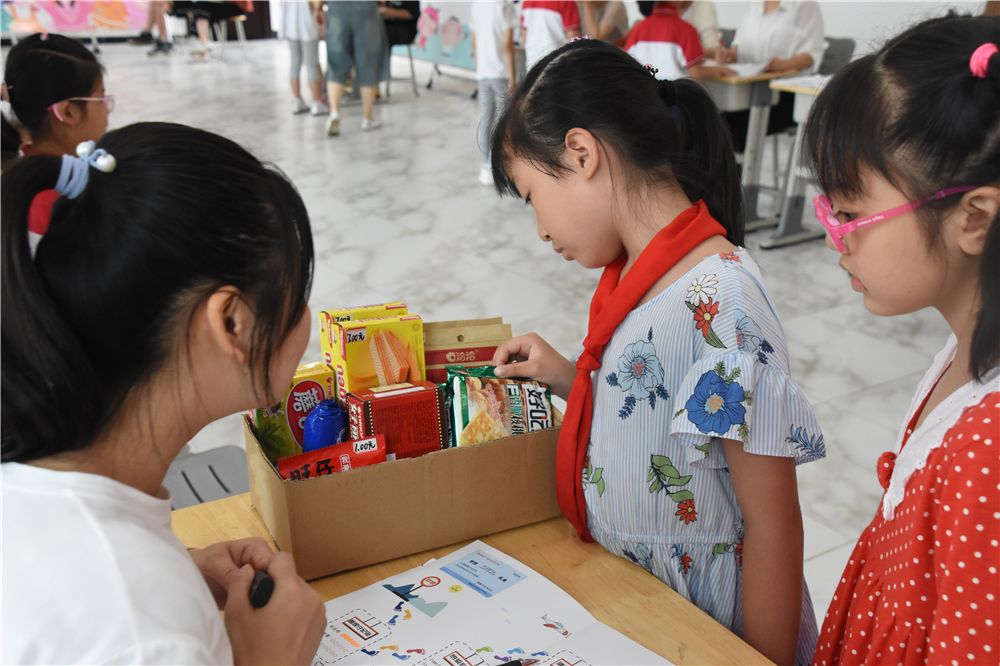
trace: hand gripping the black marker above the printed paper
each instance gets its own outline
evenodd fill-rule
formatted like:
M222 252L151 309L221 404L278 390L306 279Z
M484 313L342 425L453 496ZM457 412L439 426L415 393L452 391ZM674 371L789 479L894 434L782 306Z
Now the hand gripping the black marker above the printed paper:
M326 608L295 570L288 553L274 553L268 573L274 592L262 608L250 605L254 568L226 580L226 632L236 664L311 664L326 629Z

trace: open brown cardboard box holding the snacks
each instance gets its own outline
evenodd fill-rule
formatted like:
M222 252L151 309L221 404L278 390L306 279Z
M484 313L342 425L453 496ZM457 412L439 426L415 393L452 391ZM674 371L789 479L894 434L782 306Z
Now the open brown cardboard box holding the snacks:
M299 574L320 578L559 515L559 430L285 481L244 423L250 496Z

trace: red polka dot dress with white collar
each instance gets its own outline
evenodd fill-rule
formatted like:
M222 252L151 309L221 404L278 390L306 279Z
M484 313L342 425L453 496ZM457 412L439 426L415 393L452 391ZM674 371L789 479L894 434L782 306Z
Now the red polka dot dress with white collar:
M878 476L886 489L840 579L814 662L1000 663L1000 371L913 425L954 355L935 359Z

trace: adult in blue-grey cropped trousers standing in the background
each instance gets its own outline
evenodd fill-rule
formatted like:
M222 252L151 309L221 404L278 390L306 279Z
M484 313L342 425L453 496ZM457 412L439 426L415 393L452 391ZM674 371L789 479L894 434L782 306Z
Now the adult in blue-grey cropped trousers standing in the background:
M330 98L327 135L340 134L340 102L352 67L357 70L355 85L361 88L361 129L367 132L381 126L375 119L375 92L386 49L385 26L378 3L327 2L326 89Z

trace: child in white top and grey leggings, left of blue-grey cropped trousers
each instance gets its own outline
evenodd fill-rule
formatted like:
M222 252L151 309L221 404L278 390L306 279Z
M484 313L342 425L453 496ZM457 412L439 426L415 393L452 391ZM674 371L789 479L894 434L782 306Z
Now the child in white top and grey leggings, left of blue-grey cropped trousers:
M306 111L314 116L330 113L330 107L323 101L323 70L319 66L319 2L285 0L281 3L281 25L278 32L288 42L290 66L288 83L292 89L292 113ZM299 71L305 68L309 79L309 94L312 107L302 100L299 87Z

